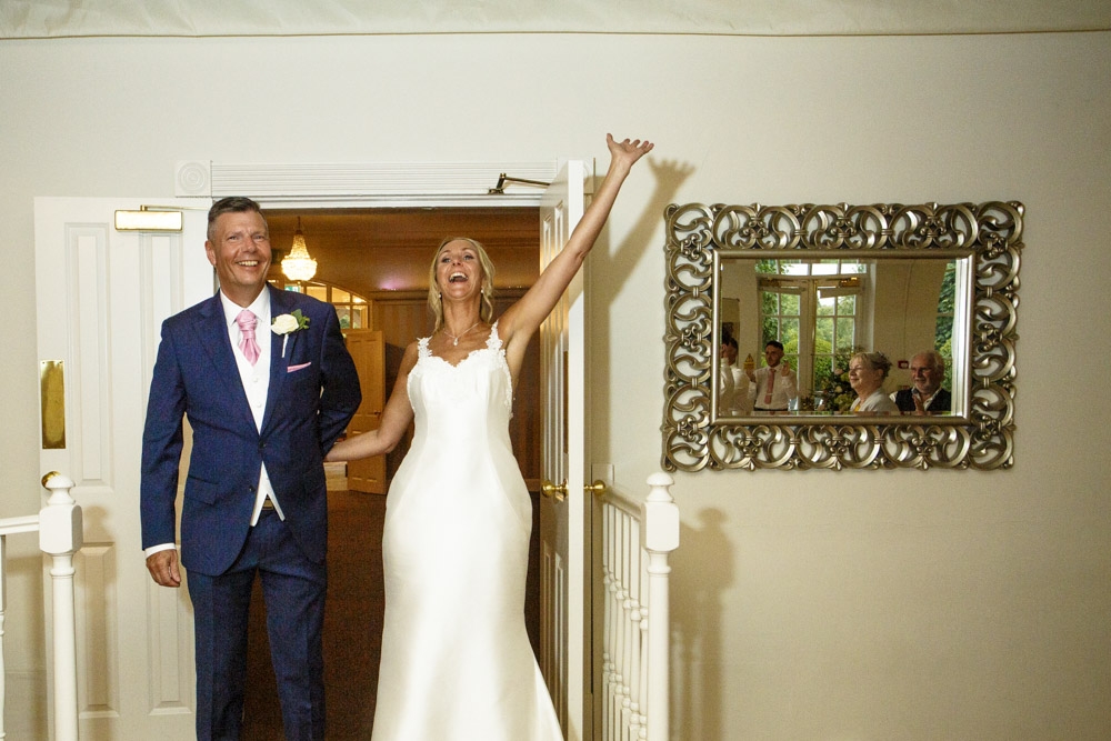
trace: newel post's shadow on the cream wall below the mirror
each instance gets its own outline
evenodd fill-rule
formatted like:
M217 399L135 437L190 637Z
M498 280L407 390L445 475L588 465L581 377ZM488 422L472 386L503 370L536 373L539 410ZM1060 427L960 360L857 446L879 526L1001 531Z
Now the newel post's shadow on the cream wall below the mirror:
M721 728L721 594L733 583L733 545L725 514L698 513L701 527L680 525L671 559L671 728L683 740L723 739Z

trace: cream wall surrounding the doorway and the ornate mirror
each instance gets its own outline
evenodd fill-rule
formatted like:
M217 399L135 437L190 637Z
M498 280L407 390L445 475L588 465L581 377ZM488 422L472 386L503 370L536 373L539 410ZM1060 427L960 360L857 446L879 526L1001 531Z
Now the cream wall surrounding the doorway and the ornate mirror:
M590 278L593 459L634 492L660 460L667 203L1017 199L1014 468L678 475L675 735L1102 738L1111 327L1077 298L1108 273L1109 79L1109 33L2 41L0 517L39 507L36 196L170 196L183 159L602 159L605 131L651 138ZM43 659L11 612L26 692ZM9 724L23 712L9 698Z

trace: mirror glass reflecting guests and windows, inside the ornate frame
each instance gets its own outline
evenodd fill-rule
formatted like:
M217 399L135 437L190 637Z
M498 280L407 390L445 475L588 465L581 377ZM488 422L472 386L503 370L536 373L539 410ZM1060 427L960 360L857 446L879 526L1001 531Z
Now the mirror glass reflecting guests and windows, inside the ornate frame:
M958 328L968 327L970 254L874 259L722 251L719 258L719 420L895 413L852 409L857 389L873 387L903 413L920 410L917 390L923 413L963 415L968 344ZM778 348L765 352L777 341L781 358ZM892 363L885 375L850 378L850 361L861 351L882 352ZM769 372L769 359L777 373ZM783 387L778 392L777 379Z

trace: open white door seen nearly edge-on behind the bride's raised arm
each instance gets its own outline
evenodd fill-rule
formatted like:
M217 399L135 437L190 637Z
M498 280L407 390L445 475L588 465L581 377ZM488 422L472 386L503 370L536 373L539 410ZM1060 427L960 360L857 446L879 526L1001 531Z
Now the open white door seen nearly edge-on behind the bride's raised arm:
M563 249L582 218L584 180L583 162L570 161L544 193L540 207L541 269ZM592 715L588 632L590 509L583 497L587 363L582 287L580 272L540 328L546 483L540 504L540 665L569 741L591 738ZM554 493L552 485L560 493Z

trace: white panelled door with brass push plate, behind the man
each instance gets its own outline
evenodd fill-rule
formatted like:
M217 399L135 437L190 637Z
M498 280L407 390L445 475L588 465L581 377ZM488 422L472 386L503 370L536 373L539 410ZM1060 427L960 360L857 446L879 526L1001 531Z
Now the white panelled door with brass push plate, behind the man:
M117 231L116 210L143 203L183 209L183 230ZM51 388L64 389L64 434L48 425L40 467L70 477L84 510L74 577L82 739L194 738L192 611L184 585L163 589L147 574L139 461L162 320L214 289L203 249L209 206L34 202L40 372L51 369Z

